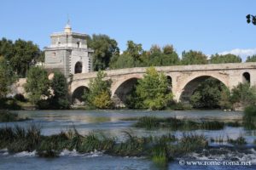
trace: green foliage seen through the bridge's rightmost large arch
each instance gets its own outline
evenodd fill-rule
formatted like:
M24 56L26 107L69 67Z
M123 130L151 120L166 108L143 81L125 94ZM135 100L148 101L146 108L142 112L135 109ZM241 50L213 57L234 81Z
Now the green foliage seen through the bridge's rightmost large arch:
M190 103L195 108L218 108L224 84L215 78L207 78L201 82L190 97Z

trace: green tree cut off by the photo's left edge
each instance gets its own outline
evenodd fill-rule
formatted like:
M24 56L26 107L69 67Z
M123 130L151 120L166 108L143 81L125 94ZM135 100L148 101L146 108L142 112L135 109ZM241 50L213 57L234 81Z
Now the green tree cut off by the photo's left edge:
M0 99L5 98L9 94L10 85L14 82L15 76L10 69L9 63L0 56Z

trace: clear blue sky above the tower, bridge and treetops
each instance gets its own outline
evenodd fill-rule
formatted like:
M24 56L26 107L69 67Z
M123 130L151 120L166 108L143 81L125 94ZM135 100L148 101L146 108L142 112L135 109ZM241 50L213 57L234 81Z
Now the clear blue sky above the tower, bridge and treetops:
M246 15L256 14L254 0L1 0L0 38L31 40L49 46L49 35L63 31L70 19L73 31L106 34L121 51L126 42L172 44L177 54L256 54L256 26Z

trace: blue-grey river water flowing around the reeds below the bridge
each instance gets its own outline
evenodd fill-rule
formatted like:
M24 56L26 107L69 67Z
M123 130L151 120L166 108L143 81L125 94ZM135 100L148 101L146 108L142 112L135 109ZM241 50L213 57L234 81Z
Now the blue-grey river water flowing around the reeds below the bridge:
M42 127L44 135L60 133L75 126L79 133L87 134L91 131L100 131L110 136L124 139L124 131L137 136L161 135L173 133L180 138L183 133L204 134L209 139L212 150L202 153L191 153L188 156L177 158L164 169L256 169L256 150L253 141L256 139L255 130L245 130L243 127L224 127L223 130L195 130L191 132L168 129L146 130L131 125L134 121L124 121L124 118L140 116L159 116L189 118L194 120L218 119L223 121L241 120L242 113L234 111L18 111L20 116L31 117L32 121L0 123L0 126L27 126L35 122ZM247 149L230 147L230 144L211 143L210 139L230 138L243 136L247 140ZM217 147L218 149L214 149ZM216 154L218 150L218 154ZM188 161L188 162L187 162ZM190 161L200 161L207 165L189 165ZM225 162L226 161L226 162ZM245 162L241 162L245 161ZM183 165L185 163L185 165ZM212 163L215 163L214 166ZM216 164L218 163L218 164ZM231 165L233 163L233 165ZM247 165L237 165L246 163ZM225 165L224 165L225 164ZM252 165L250 165L252 164ZM7 150L0 150L0 169L162 169L146 158L108 156L101 152L79 154L76 150L63 150L58 158L39 158L34 152L20 152L9 154Z

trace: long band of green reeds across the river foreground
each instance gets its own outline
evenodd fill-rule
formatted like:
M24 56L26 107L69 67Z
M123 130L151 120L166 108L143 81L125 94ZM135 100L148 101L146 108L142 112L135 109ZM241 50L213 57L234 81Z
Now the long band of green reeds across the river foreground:
M102 151L111 156L145 156L154 163L165 166L173 157L207 147L202 135L184 134L176 139L172 133L161 136L137 137L125 131L125 140L117 141L96 131L83 136L75 129L44 136L35 124L29 127L0 127L0 146L9 152L36 150L40 157L57 157L61 150L77 150L79 153Z

